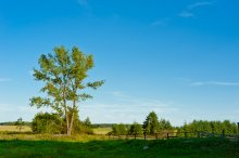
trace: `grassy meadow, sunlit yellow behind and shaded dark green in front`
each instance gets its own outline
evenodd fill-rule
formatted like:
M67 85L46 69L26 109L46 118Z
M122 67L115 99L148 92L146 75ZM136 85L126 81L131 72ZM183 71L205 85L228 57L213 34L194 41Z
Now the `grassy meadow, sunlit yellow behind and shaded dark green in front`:
M225 139L109 140L111 128L72 136L32 134L29 127L25 132L0 128L0 157L239 157L239 143Z

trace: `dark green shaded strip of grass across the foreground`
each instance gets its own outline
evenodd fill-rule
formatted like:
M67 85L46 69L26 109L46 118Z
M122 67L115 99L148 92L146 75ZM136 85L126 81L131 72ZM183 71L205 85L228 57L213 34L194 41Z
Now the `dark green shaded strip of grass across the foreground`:
M218 139L0 141L0 157L239 157L235 142Z

